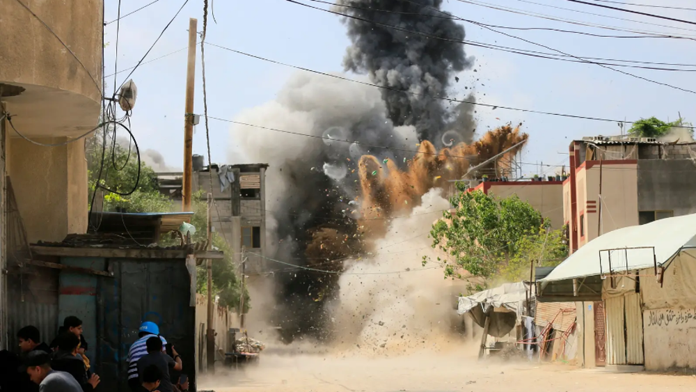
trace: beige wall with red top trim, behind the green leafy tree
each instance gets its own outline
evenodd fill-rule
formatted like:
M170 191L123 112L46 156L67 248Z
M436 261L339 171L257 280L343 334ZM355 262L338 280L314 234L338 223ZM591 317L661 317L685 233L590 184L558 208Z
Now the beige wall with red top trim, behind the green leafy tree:
M484 189L488 194L505 198L516 194L551 220L551 227L560 229L563 220L563 185L557 182L488 182Z

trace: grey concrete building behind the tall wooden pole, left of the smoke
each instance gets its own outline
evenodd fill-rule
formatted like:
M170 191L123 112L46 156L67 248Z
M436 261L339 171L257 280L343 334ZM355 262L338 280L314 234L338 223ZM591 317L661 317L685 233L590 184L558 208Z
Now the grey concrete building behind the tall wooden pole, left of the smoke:
M266 256L266 187L267 164L203 166L203 157L193 159L193 189L214 200L214 230L223 237L235 262L241 261L242 249L247 258L246 271L264 272ZM212 178L212 183L211 183ZM172 198L181 208L182 173L157 173L159 191Z

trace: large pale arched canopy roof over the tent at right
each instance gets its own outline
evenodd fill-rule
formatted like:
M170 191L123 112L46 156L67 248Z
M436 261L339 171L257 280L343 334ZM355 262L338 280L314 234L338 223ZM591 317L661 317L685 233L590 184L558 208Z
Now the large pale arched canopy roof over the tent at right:
M590 241L539 281L651 268L655 262L661 266L689 247L696 247L696 214L620 228Z

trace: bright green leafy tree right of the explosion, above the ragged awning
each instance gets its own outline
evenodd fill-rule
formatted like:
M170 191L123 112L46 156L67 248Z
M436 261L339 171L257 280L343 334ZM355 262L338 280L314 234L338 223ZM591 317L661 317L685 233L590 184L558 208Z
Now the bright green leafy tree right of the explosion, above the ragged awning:
M454 212L445 212L432 226L432 247L447 253L445 276L457 268L485 279L520 281L529 279L532 262L537 266L557 265L567 256L562 230L551 230L547 219L516 195L497 198L482 191L466 191L450 198ZM424 258L423 262L429 262Z

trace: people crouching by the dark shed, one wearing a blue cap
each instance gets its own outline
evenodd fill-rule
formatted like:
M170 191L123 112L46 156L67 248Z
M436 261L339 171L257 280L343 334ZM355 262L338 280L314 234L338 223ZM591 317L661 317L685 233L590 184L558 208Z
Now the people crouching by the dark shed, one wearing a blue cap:
M92 392L100 384L86 356L87 342L82 321L65 317L63 327L51 345L43 343L38 328L29 325L17 331L17 355L0 351L0 392ZM171 373L181 372L181 356L154 322L143 322L139 339L128 351L128 386L133 392L186 392L188 379L182 375L172 382Z

